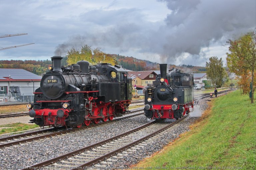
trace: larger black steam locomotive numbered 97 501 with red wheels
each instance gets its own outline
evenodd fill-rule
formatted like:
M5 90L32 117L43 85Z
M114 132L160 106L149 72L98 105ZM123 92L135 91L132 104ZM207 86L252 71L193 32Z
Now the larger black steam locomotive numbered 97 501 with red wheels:
M89 66L78 61L61 67L63 57L51 57L53 66L35 90L34 103L28 104L30 123L43 126L88 126L112 120L128 111L132 83L121 66L101 63Z

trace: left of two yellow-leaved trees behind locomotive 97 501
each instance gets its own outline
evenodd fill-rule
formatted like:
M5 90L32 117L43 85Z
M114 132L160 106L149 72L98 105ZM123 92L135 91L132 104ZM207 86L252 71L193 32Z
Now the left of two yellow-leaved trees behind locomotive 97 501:
M68 50L67 55L67 63L69 65L75 64L77 61L86 60L92 63L92 49L89 45L83 45L80 50L72 47Z

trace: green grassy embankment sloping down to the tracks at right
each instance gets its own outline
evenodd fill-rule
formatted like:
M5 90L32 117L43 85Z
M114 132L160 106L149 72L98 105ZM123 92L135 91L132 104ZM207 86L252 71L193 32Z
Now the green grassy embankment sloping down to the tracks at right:
M240 95L237 90L220 96L212 100L210 108L191 126L191 131L135 166L255 169L255 123L256 103L251 104L247 95Z

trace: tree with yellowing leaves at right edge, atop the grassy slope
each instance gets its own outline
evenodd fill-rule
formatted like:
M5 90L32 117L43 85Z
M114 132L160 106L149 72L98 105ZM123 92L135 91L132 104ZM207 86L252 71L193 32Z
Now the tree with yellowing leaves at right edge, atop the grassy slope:
M237 40L228 40L227 66L230 71L242 78L243 91L249 94L250 85L246 80L250 79L252 84L251 103L253 103L254 90L256 87L256 29L239 37ZM250 77L248 77L250 75Z

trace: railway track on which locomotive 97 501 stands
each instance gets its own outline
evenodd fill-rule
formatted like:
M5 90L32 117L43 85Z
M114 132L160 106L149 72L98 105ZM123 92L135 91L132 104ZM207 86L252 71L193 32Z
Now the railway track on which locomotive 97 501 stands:
M139 113L136 113L136 112L139 112ZM39 140L42 138L52 137L52 136L56 136L56 135L60 135L60 134L64 134L64 133L69 133L69 132L73 132L76 130L82 130L82 129L86 129L86 128L90 128L90 127L104 125L107 123L112 123L115 121L120 121L123 119L128 119L131 117L139 116L142 114L144 114L143 109L140 109L140 110L130 112L129 114L127 114L127 116L123 116L121 118L114 118L112 121L100 122L98 124L91 124L89 126L84 126L81 128L72 128L72 129L70 129L70 128L66 129L64 127L49 128L49 129L38 130L38 131L34 131L34 132L29 132L29 133L22 133L22 134L17 134L17 135L13 135L13 136L3 137L3 138L0 138L0 148L16 145L16 144L20 144L20 143L30 142L30 141L34 141L34 140Z

